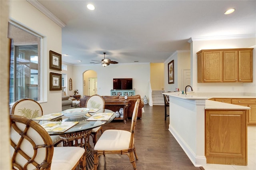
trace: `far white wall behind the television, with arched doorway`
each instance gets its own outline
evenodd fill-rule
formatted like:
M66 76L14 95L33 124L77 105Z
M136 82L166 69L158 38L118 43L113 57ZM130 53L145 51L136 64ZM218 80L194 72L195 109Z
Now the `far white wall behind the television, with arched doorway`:
M101 64L92 65L74 65L74 89L82 92L83 73L87 70L94 70L98 78L98 95L110 95L113 89L113 78L132 78L132 87L135 88L135 94L148 96L150 81L150 63L136 64L110 64L103 67Z

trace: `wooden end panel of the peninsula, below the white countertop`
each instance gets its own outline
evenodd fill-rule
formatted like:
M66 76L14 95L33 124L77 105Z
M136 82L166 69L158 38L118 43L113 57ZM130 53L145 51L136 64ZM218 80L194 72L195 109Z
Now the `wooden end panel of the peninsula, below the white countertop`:
M246 110L205 110L206 163L247 165Z

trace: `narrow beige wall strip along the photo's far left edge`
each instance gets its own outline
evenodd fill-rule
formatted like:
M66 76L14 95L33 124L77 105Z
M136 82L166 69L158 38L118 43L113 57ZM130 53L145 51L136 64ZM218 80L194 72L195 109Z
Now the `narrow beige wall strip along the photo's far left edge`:
M8 1L0 1L0 169L10 170Z

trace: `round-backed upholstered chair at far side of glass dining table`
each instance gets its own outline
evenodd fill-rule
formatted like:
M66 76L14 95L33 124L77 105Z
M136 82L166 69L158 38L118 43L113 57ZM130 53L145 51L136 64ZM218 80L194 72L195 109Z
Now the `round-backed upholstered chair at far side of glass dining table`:
M105 101L100 95L92 95L87 99L85 107L89 109L105 109ZM100 131L102 134L102 127L96 127L92 129L91 135L94 146L97 142L97 134Z

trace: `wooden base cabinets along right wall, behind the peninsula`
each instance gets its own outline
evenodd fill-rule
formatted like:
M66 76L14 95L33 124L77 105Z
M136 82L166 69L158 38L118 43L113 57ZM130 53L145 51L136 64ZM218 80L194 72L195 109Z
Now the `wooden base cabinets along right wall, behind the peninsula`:
M251 98L251 99L212 98L210 100L250 107L251 109L248 111L247 124L248 126L256 126L256 99L255 98Z

